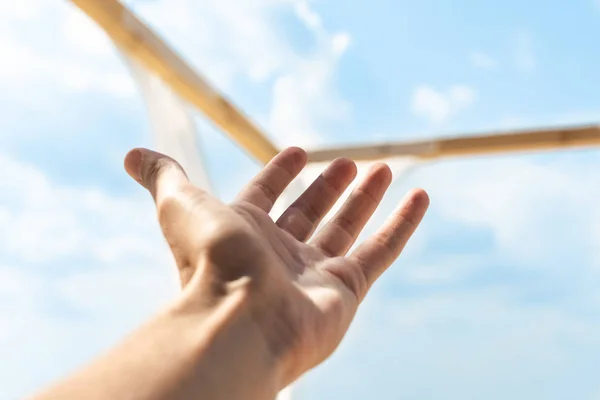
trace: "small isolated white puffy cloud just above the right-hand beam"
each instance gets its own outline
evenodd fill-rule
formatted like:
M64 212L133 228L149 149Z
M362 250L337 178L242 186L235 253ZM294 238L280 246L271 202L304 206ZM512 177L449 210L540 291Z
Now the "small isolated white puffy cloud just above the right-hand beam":
M413 114L429 122L442 123L471 106L476 99L475 89L466 85L453 85L445 92L421 85L413 92L411 109Z

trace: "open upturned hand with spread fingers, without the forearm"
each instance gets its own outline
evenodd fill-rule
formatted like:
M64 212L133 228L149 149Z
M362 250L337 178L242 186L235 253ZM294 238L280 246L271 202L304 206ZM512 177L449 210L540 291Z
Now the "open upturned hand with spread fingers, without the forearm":
M355 178L356 166L335 160L274 222L269 211L305 164L303 150L283 151L226 205L191 185L164 155L136 149L125 159L128 173L156 202L186 304L209 310L237 296L276 360L281 388L335 350L429 204L424 191L411 191L377 233L346 255L390 185L391 171L373 166L307 242Z

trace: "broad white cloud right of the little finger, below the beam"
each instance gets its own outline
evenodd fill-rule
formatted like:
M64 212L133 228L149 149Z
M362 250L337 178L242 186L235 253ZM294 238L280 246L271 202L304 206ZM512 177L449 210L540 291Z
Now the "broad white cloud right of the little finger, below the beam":
M600 243L594 203L600 186L589 183L597 158L579 165L576 155L556 157L553 163L526 156L446 161L417 173L444 218L490 229L499 254L547 268L558 267L561 251L572 260L600 260L600 252L590 251ZM586 268L584 259L570 268Z

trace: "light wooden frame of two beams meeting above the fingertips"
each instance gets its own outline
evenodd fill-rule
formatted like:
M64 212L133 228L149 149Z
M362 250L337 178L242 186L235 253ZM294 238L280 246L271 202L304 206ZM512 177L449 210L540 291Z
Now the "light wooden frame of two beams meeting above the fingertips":
M118 47L161 77L255 159L265 164L278 153L266 135L119 0L71 2L96 21ZM330 148L309 152L309 162L325 162L342 156L354 160L394 156L437 159L591 146L600 146L598 126Z

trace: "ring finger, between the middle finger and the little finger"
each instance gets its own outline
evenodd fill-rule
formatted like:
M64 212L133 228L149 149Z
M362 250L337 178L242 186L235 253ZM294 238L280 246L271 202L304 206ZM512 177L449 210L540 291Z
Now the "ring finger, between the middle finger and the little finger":
M392 172L387 165L375 164L371 167L342 208L316 234L312 244L332 257L346 254L371 218L391 181Z

